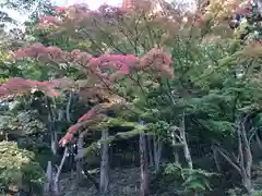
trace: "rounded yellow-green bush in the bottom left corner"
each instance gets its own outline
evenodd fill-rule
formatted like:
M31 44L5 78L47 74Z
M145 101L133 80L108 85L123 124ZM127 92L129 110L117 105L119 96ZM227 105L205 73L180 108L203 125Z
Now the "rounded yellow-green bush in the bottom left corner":
M20 149L15 143L0 143L0 186L3 192L9 186L16 189L40 188L45 182L45 173L35 155ZM39 189L38 189L39 191Z

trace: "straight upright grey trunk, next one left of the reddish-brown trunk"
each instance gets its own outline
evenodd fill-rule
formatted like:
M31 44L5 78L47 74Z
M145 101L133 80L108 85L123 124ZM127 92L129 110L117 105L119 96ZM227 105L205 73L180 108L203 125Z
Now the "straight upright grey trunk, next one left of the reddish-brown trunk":
M109 183L109 144L107 142L109 135L108 131L102 132L102 162L100 162L100 193L108 192Z

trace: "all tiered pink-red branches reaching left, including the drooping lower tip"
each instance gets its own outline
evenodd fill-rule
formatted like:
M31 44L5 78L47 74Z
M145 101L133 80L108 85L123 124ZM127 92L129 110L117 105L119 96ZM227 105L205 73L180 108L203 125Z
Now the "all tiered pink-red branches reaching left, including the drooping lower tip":
M35 53L35 51L37 51L36 49L38 50L37 53ZM60 53L57 53L57 52L60 52ZM124 99L122 99L119 96L117 97L114 96L114 93L117 89L116 88L112 89L114 86L109 87L110 83L118 79L118 77L121 77L122 74L123 75L130 74L129 76L132 78L132 75L131 75L132 72L134 72L135 74L135 72L142 68L144 70L147 70L148 73L151 73L150 69L153 69L156 73L158 72L162 72L164 74L169 73L169 70L165 70L165 69L168 66L168 63L170 63L168 56L163 53L160 50L156 50L156 49L153 49L141 59L138 59L134 56L114 56L114 54L112 56L105 54L105 56L102 56L100 58L92 58L92 56L86 52L80 52L78 50L74 50L71 53L69 53L69 52L63 52L62 50L56 47L44 47L41 45L33 45L31 47L21 49L15 53L16 58L22 58L22 57L38 58L38 56L41 56L43 60L49 60L55 62L61 62L61 61L79 62L79 64L87 71L88 76L93 77L93 81L87 81L88 83L84 81L82 82L80 81L79 83L80 85L79 87L85 88L84 89L85 96L87 98L95 98L96 96L98 97L98 99L107 98L106 101L109 101L108 103L105 102L105 103L97 105L91 111L88 111L85 115L83 115L79 120L78 124L71 126L67 135L60 142L60 144L63 146L73 138L73 134L80 128L84 128L86 127L86 125L91 126L92 124L100 122L103 119L105 119L106 117L100 113L103 110L110 109L115 105L118 106L119 103L120 106L124 106L124 105L126 107L128 106L128 103L123 105L122 101ZM158 60L160 60L160 62L154 64L153 68L150 66L148 64L151 61L147 62L152 58L153 59L157 58ZM112 64L109 64L109 63L112 63ZM115 63L120 63L119 65L122 65L122 66L118 68L115 65ZM122 64L122 63L127 63L127 64ZM164 68L162 66L162 63L164 63ZM105 68L108 68L108 65L111 65L112 66L111 69L116 69L117 72L112 74L110 73L104 74L102 71ZM97 66L100 70L97 70ZM70 79L68 81L57 79L52 82L35 82L35 81L20 78L19 81L20 81L20 84L22 84L22 86L15 87L15 84L17 84L17 78L10 79L8 83L1 86L1 94L11 95L16 93L29 93L32 88L37 87L39 90L43 90L48 95L57 96L58 94L53 89L55 87L59 87L60 85L67 86L67 87L71 87L72 85L78 85L78 83L72 83ZM132 82L132 79L130 79L130 82ZM86 88L90 90L86 90ZM114 103L115 101L117 102Z

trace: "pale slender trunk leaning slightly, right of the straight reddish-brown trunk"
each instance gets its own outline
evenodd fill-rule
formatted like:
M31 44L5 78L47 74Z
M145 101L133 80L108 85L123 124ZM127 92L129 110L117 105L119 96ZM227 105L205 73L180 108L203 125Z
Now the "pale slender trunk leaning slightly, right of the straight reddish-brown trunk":
M180 121L179 132L183 143L183 154L184 154L186 161L188 163L189 169L192 170L193 162L192 162L191 154L190 154L187 137L186 137L184 113L183 113L182 120Z

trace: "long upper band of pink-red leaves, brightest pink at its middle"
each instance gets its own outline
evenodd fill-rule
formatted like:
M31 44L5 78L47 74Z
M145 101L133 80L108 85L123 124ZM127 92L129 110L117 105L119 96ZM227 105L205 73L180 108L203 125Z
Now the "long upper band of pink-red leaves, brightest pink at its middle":
M68 52L62 51L58 47L45 47L41 44L34 44L19 49L12 57L15 59L35 58L40 61L52 61L57 63L78 63L88 73L103 79L103 82L107 82L107 84L108 82L114 82L119 76L130 74L133 70L154 71L155 73L172 76L170 57L163 50L156 48L153 48L141 58L133 54L103 54L95 58L78 49ZM105 70L108 69L114 70L114 73L106 73Z

